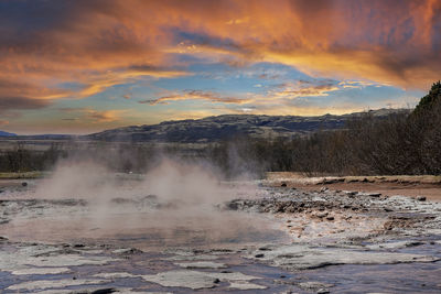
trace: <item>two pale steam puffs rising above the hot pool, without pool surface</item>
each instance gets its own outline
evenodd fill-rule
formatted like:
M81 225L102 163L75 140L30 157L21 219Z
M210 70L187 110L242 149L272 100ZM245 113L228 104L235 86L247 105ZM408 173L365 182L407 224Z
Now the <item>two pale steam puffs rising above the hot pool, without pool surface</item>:
M179 202L184 206L218 204L232 193L215 168L163 159L146 175L112 173L90 161L62 162L51 177L43 179L40 198L82 198L103 205L115 198L158 196L161 202ZM248 190L252 187L247 185ZM236 190L238 192L238 190Z

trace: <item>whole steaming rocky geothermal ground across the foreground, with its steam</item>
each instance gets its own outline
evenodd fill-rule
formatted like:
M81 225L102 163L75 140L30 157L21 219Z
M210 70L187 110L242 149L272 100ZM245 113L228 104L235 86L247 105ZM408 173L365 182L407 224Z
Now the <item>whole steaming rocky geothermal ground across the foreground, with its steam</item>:
M84 162L2 179L0 288L441 292L441 203L308 181L226 182L170 160L143 175Z

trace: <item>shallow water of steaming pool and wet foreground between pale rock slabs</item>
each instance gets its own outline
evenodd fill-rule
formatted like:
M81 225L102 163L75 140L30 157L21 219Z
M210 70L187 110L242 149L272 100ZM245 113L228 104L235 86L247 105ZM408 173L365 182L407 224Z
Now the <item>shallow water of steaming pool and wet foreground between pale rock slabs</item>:
M99 273L123 272L133 276L111 279L95 285L72 285L63 288L85 290L116 287L121 290L162 291L172 293L193 293L185 287L164 287L147 282L142 275L151 275L173 270L183 270L176 260L190 257L186 262L211 261L227 264L227 269L196 269L197 272L228 271L252 275L256 285L265 290L250 290L249 293L315 293L304 290L301 283L319 282L327 284L331 293L441 293L441 262L398 263L370 265L331 265L315 270L288 272L269 266L259 260L247 259L266 243L287 243L290 237L281 230L282 220L271 215L245 211L223 211L208 206L197 209L180 209L173 206L147 205L146 198L125 195L126 200L112 202L104 207L80 202L42 202L35 199L28 204L13 199L29 198L20 193L3 202L3 217L10 221L0 226L0 236L9 242L0 242L0 252L19 257L21 249L36 243L54 244L56 257L79 254L80 257L105 257L111 259L103 265L72 265L69 272L61 274L11 274L0 269L0 290L2 293L17 293L9 286L30 281L77 281L90 279ZM15 197L17 196L17 197ZM130 195L129 195L130 196ZM32 198L32 197L31 197ZM142 202L141 202L141 200ZM151 203L150 203L151 204ZM175 203L179 205L179 203ZM191 207L190 207L191 208ZM410 215L412 217L412 215ZM325 236L323 240L327 240ZM394 252L415 253L441 258L441 236L408 238L394 241L417 240L421 246L409 247ZM437 242L438 241L438 242ZM366 243L367 244L367 243ZM314 246L314 244L311 244ZM50 246L47 246L51 248ZM120 249L137 248L143 252L117 253ZM333 248L332 250L340 250ZM57 252L61 251L61 252ZM3 258L6 255L2 255ZM20 262L19 260L17 262ZM23 261L25 262L25 261ZM182 261L180 261L182 262ZM1 263L1 260L0 260ZM3 271L2 271L3 270ZM74 280L75 279L75 280ZM232 281L219 281L206 292L239 292L230 288ZM51 288L51 287L47 287ZM20 290L33 293L34 290Z

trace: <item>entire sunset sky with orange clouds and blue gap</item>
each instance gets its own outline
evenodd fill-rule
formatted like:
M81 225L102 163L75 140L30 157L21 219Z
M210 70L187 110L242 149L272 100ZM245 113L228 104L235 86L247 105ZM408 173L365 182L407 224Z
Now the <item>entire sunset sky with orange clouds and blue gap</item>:
M409 108L439 79L439 0L0 1L19 134Z

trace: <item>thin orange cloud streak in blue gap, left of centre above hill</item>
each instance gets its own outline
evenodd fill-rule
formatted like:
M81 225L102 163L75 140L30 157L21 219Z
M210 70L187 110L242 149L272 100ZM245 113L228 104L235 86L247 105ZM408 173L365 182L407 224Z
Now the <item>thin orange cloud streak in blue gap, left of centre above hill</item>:
M142 100L140 104L158 105L168 104L170 101L182 101L182 100L205 100L209 102L222 102L222 104L236 104L241 105L249 102L249 99L240 99L234 97L224 97L219 94L213 91L202 91L202 90L185 90L180 94L173 94L168 96L162 96L157 99Z

